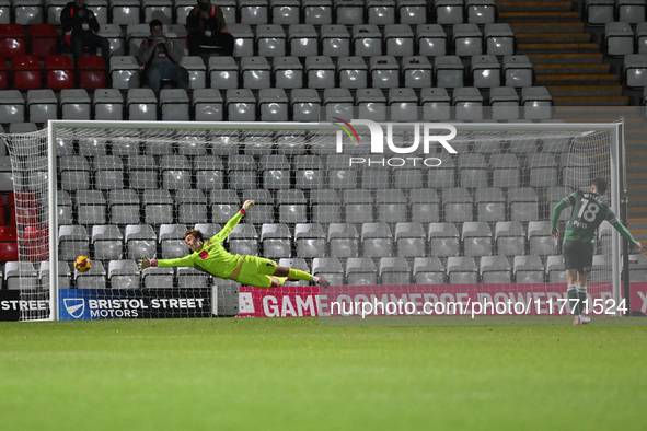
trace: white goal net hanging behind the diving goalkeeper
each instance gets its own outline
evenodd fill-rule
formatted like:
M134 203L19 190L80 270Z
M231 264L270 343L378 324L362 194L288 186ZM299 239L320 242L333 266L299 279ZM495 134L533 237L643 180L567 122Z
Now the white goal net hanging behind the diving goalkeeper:
M561 241L550 236L553 207L604 177L619 210L619 125L372 125L379 130L340 119L50 121L47 130L4 136L20 237L20 263L7 264L15 268L11 288L55 307L21 317L238 314L236 300L223 299L238 299L235 281L193 268L140 272L136 260L187 255L186 230L210 237L245 199L256 205L226 241L231 253L333 286L434 286L454 299L458 291L494 298L520 284L528 287L521 295L565 294ZM438 138L453 131L448 145ZM617 298L620 241L605 225L599 236L589 293ZM74 269L80 255L92 260L90 271ZM92 291L109 294L97 302Z

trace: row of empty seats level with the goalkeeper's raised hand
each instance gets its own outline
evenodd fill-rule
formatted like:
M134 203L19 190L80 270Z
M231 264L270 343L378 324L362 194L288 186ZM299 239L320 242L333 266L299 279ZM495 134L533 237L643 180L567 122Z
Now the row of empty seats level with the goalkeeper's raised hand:
M488 191L498 191L498 196ZM464 188L379 190L373 198L370 190L313 189L307 198L302 190L278 190L277 198L268 190L240 191L245 199L257 200L247 218L251 223L398 223L404 221L430 222L488 222L518 221L528 223L550 218L552 208L565 195L561 187L548 191L545 205L532 188L511 188L504 195L496 188L475 190L474 197ZM478 195L480 193L480 195ZM334 200L336 199L336 200ZM492 199L488 200L488 199ZM240 208L236 190L182 189L173 197L167 190L148 189L141 198L132 189L117 189L104 194L100 190L78 190L73 198L60 190L58 217L60 223L92 224L164 224L164 223L226 223ZM542 202L544 202L542 200ZM564 211L561 220L567 220ZM21 213L22 221L37 224L39 214Z

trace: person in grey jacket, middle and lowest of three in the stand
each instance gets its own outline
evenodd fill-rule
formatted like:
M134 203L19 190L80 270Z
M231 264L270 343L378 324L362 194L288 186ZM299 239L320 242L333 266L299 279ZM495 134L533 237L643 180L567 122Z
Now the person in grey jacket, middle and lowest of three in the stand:
M155 97L160 97L164 79L177 82L177 88L188 92L188 71L180 66L183 53L164 36L160 20L151 21L149 26L151 36L139 46L139 62L143 65L143 73Z

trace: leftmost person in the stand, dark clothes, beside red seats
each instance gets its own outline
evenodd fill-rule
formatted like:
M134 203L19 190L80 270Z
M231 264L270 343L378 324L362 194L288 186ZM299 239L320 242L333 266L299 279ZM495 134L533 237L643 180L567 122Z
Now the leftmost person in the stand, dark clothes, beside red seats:
M101 48L101 56L105 62L106 69L109 68L111 44L105 37L96 34L99 32L99 21L85 5L85 0L70 1L60 13L60 23L65 44L72 48L74 63L86 46L91 51Z

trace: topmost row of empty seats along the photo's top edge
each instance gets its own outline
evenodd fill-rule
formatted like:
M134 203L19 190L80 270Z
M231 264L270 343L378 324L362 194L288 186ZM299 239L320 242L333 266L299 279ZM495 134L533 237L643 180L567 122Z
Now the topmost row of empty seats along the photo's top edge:
M0 2L0 24L15 22L20 25L48 22L60 25L65 0L24 0L11 4ZM158 19L163 23L184 24L193 0L91 0L92 10L101 24L119 25L147 23ZM434 5L425 0L220 0L226 22L251 25L276 23L315 25L339 23L423 24L437 22L454 24L470 22L486 24L495 22L494 0L438 0ZM14 21L11 20L14 19Z

